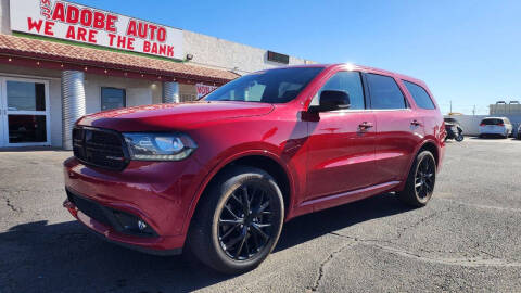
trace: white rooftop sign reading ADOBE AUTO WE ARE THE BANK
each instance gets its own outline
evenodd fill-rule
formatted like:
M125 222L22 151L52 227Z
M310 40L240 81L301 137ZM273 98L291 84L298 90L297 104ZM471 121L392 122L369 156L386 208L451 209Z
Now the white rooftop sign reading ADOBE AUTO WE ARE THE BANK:
M11 29L183 59L182 30L59 0L11 0Z

